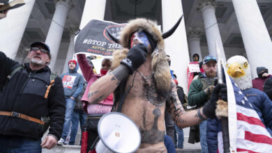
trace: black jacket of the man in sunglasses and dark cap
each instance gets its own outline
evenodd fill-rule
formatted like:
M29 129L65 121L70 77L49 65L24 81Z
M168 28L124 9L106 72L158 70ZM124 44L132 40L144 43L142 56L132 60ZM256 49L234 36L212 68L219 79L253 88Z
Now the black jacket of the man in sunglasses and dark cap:
M20 65L6 57L0 51L0 85L7 81L7 76ZM29 63L22 70L13 74L10 81L0 94L0 111L15 111L33 118L49 116L49 134L61 137L65 115L65 99L61 78L56 77L55 84L45 99L47 86L50 85L50 68L45 66L32 71ZM0 135L23 136L40 139L43 136L43 126L36 122L6 115L0 115Z

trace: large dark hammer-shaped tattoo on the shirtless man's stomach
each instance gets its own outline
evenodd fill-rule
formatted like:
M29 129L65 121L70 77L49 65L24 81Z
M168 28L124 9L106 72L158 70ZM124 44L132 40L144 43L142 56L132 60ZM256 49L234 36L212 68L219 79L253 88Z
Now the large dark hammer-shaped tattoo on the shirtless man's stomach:
M142 127L139 127L139 132L141 133L141 143L156 144L163 142L164 140L165 132L158 130L158 118L161 115L160 109L155 108L153 110L153 115L155 115L155 118L151 129L145 130L142 129Z

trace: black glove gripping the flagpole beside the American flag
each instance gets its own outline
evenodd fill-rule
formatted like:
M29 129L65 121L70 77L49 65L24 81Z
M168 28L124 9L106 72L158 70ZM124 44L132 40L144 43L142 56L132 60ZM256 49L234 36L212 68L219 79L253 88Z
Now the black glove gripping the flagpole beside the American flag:
M216 105L218 99L227 102L227 86L225 83L216 85L211 93L211 99L203 106L203 113L208 118L216 118Z

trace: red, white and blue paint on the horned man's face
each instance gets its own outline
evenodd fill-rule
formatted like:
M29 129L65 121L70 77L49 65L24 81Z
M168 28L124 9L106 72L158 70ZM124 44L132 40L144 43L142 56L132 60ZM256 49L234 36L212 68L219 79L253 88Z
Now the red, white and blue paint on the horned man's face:
M130 48L132 48L133 46L139 43L146 45L146 47L149 47L150 45L149 39L147 38L146 34L143 32L135 32L133 33L133 35L131 35Z

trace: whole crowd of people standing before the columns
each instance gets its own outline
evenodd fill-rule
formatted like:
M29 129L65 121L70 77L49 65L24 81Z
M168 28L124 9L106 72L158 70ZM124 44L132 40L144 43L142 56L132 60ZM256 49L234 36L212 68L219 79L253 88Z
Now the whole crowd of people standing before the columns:
M0 19L6 13L0 13ZM156 27L148 19L128 22L120 38L114 39L123 49L102 61L100 73L93 70L85 54L77 54L77 61L66 63L68 72L56 76L48 67L50 47L44 42L30 45L29 63L24 65L0 51L1 152L52 149L66 143L69 131L68 144L74 145L79 122L88 131L87 138L82 135L82 150L94 152L98 120L111 111L128 115L139 128L141 143L136 152L176 152L175 147L183 148L184 127L190 127L193 143L198 136L202 152L217 152L216 102L227 102L225 83L216 81L217 59L209 55L198 63L199 55L192 56L202 71L192 74L187 99L184 87L169 68L171 59L164 47L164 39L177 26L167 36ZM237 58L243 61L243 72L232 70L232 61ZM250 65L243 56L229 58L227 63L229 76L272 134L272 79L268 70L257 67L258 78L252 80ZM82 74L77 72L79 67Z

